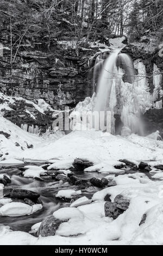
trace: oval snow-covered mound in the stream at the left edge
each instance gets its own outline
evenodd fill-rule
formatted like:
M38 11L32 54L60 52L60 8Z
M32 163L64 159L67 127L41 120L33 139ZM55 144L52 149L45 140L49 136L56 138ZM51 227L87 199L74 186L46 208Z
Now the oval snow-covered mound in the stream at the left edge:
M20 202L12 202L12 203L3 205L0 208L0 215L10 216L10 217L30 215L40 209L42 209L41 204L34 204L33 206L30 206L28 204L24 204Z

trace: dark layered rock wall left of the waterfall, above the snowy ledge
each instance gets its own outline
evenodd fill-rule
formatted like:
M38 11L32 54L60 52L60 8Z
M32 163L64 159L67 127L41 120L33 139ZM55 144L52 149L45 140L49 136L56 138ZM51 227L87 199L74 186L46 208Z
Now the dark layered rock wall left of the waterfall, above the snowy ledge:
M70 49L52 48L51 52L20 51L9 66L9 51L0 59L0 90L6 95L43 99L53 108L74 105L85 97L87 60L92 50L80 58Z

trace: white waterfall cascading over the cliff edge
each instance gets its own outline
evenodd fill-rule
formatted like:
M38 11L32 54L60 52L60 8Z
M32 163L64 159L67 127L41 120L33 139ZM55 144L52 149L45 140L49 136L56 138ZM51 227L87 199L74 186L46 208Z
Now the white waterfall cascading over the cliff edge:
M137 76L131 58L114 50L106 59L98 80L95 111L111 112L111 133L115 134L115 114L121 116L124 127L130 132L143 135L139 93L136 91ZM143 86L146 79L142 78ZM146 92L147 93L147 92Z

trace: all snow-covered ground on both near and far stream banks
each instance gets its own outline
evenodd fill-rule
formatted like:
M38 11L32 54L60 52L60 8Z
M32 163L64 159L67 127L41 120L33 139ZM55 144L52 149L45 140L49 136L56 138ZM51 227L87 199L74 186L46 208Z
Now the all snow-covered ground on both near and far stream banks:
M16 159L50 160L51 165L48 169L64 168L66 172L73 160L79 157L94 164L85 171L104 170L104 173L116 173L118 170L114 165L120 163L118 162L120 159L128 159L136 164L140 161L149 161L152 166L163 163L163 142L156 141L153 137L133 134L122 137L89 130L72 131L68 135L58 132L52 140L48 135L45 138L32 135L5 118L0 118L0 130L10 135L9 138L0 135L1 152L9 153L6 155L7 160L1 161L1 164L16 163ZM21 147L16 147L15 142L19 143L23 150ZM34 147L28 149L27 143L33 144ZM24 176L40 176L44 172L45 170L40 167L30 167L25 170ZM71 206L71 210L67 207L55 211L55 217L64 220L68 216L69 219L68 222L60 224L55 236L34 237L26 232L12 231L8 226L1 225L0 245L161 245L163 243L163 181L161 180L163 176L161 170L155 173L153 169L152 172L156 175L155 179L160 180L152 181L146 174L140 173L111 175L110 178L117 185L106 187L93 194L92 202L85 199L84 205L80 205L79 201L80 206L77 202ZM1 191L3 187L1 185ZM67 196L69 192L60 193L61 196ZM106 194L111 195L112 202L118 194L130 200L129 208L116 220L105 217ZM83 197L82 194L80 196ZM12 203L7 202L2 208L11 211L13 216L12 208L8 209L8 205L12 206ZM28 211L31 212L32 209ZM144 214L146 214L145 223L139 225ZM40 223L33 229L39 228L39 225Z

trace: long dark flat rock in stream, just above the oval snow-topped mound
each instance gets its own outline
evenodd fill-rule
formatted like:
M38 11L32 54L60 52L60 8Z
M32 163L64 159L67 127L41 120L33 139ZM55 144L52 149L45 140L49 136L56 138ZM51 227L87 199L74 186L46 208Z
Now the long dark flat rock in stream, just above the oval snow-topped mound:
M28 198L28 199L31 199L33 202L36 202L37 199L40 197L40 194L30 191L30 190L22 190L21 188L13 188L11 191L9 191L4 196L10 197L10 198L18 198L18 199Z

